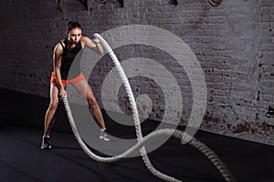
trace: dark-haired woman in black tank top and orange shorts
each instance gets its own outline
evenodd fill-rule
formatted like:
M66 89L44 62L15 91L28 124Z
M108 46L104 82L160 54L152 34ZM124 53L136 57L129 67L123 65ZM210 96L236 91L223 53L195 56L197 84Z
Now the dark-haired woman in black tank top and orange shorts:
M55 46L53 53L54 71L52 72L50 80L50 104L45 116L44 136L41 149L51 148L49 132L54 123L54 116L59 99L67 95L65 90L67 84L74 86L82 96L87 98L90 112L101 129L100 139L111 141L110 136L106 133L106 126L100 111L100 106L85 76L80 72L79 59L75 59L79 51L85 46L90 47L100 55L103 54L103 48L97 38L91 40L88 36L83 36L82 27L78 22L68 22L67 37ZM72 63L73 66L71 66Z

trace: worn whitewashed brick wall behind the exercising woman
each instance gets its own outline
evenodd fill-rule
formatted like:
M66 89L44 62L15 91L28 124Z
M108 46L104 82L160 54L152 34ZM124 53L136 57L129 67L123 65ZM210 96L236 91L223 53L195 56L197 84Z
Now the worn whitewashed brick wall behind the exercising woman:
M53 1L4 0L0 7L0 86L48 97L52 51L60 38L65 37L71 19L83 25L84 35L103 33L121 25L154 25L180 37L203 68L207 105L201 129L274 144L273 1L232 0L216 8L206 0L179 0L176 6L170 5L169 0L124 0L124 7L114 0L106 4L92 0L88 3L85 10L79 1L64 0L63 11L59 12ZM109 38L119 42L118 35ZM165 44L172 43L167 39ZM186 125L193 90L187 74L178 68L174 58L153 46L122 46L115 53L121 62L140 56L156 60L173 73L182 91L181 123ZM104 56L90 74L90 84L99 101L102 82L112 67L110 58ZM161 120L164 114L161 87L144 77L134 77L130 82L135 96L144 93L150 96L153 103L150 118ZM122 88L119 98L121 110L130 114Z

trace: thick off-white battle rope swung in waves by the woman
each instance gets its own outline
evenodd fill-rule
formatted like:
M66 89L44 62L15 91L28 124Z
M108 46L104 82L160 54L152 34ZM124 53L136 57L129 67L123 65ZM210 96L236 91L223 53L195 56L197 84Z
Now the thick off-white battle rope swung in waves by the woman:
M120 62L118 61L117 57L113 53L113 51L111 49L111 46L99 34L95 34L95 36L98 39L100 39L101 45L107 51L108 55L111 56L111 61L114 63L115 67L117 68L117 70L119 72L119 75L121 76L122 83L125 86L126 93L129 96L130 104L132 106L132 116L133 116L133 119L134 119L134 125L135 125L135 129L136 129L136 136L137 136L138 142L137 142L137 144L135 144L133 147L131 147L128 150L126 150L121 155L114 156L114 157L100 157L100 156L92 153L90 151L89 147L86 146L86 144L83 142L83 140L79 136L79 132L77 130L77 127L75 125L73 116L71 114L70 107L68 105L68 98L67 98L67 96L65 96L64 99L63 99L63 102L64 102L64 106L65 106L65 109L66 109L66 112L67 112L69 125L71 126L72 132L73 132L74 136L76 137L76 139L77 139L77 141L79 143L79 146L82 148L82 150L90 158L92 158L93 160L96 160L98 162L111 163L111 162L118 161L121 158L128 157L134 151L136 151L136 150L139 149L140 153L141 153L141 156L142 156L142 160L143 160L144 165L148 168L148 170L155 177L158 177L158 178L163 179L165 181L173 181L173 182L175 181L175 182L178 182L180 180L178 180L178 179L176 179L174 177L169 177L169 176L163 174L162 172L158 171L157 169L155 169L153 167L153 165L152 165L149 157L147 156L147 153L146 153L146 150L145 150L145 147L144 147L144 145L146 144L146 142L148 142L149 140L151 140L153 137L161 136L161 135L174 136L176 138L181 139L182 143L186 143L187 142L192 147L195 147L201 153L203 153L205 155L205 157L207 157L213 163L213 165L219 170L220 174L227 180L227 182L233 182L233 181L235 181L234 177L231 175L231 173L229 172L228 168L220 160L220 158L217 157L216 154L209 147L206 147L205 144L199 142L193 136L189 136L186 133L184 133L184 132L182 132L180 130L176 130L176 129L159 129L159 130L153 131L152 133L150 133L147 136L142 137L142 131L141 131L141 125L140 125L140 120L139 120L139 114L138 114L138 111L137 111L136 102L135 102L134 96L132 94L132 88L130 86L129 80L127 79L127 76L125 75L125 73L124 73L124 71L123 71L123 69L121 67Z

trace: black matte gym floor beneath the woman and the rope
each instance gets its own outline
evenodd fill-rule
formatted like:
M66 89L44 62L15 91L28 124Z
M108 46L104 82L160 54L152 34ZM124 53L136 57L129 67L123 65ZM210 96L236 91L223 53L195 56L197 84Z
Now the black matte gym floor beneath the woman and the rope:
M141 157L125 158L114 164L90 159L72 135L62 106L51 134L54 147L40 150L47 98L5 89L0 89L0 94L1 182L161 181L149 173ZM154 124L143 126L150 130ZM108 121L107 125L114 127ZM115 131L125 134L122 128ZM216 152L238 182L274 181L274 147L204 131L198 131L195 137ZM149 157L154 167L184 182L224 181L208 159L175 138L170 138Z

